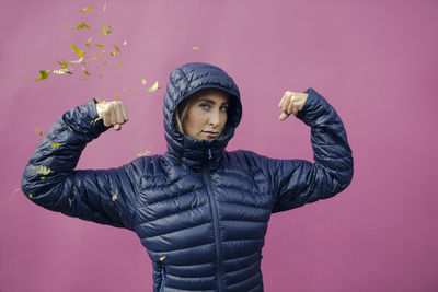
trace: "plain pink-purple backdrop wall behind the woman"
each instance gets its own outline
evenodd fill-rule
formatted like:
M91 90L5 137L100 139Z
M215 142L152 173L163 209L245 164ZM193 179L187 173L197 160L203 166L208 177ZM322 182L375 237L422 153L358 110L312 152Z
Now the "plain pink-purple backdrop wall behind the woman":
M119 166L146 149L163 153L164 89L146 89L155 80L164 87L188 61L218 65L240 86L244 115L229 150L312 161L309 128L277 120L286 90L314 87L347 129L353 183L333 199L273 215L266 291L437 291L438 2L108 0L103 11L104 2L2 1L1 292L151 290L151 264L134 233L11 195L41 140L35 128L47 132L93 96L118 93L130 120L89 144L79 167ZM82 21L92 28L59 28ZM102 22L114 28L105 37ZM92 75L80 80L82 65L74 65L73 75L35 82L38 70L77 59L72 43L85 54L107 44L85 66ZM110 56L112 44L123 56Z

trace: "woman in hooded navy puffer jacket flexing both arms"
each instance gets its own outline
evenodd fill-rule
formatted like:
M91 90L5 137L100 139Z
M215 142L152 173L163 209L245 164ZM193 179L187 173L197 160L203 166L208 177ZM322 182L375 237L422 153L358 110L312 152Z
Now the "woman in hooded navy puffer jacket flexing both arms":
M238 86L216 66L186 63L164 96L166 153L73 171L88 142L128 118L119 102L91 101L53 126L22 189L47 209L136 232L154 291L263 291L270 214L333 197L353 176L343 122L320 94L287 92L279 107L280 120L292 114L311 127L314 163L226 151L242 115Z

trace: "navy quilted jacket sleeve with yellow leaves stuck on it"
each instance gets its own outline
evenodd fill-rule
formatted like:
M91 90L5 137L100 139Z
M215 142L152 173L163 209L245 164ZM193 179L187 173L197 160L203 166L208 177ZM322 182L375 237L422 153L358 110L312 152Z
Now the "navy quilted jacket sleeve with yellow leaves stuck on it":
M64 114L25 166L22 190L46 209L132 230L145 160L118 168L73 171L87 143L107 129L96 119L94 100Z

